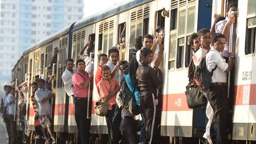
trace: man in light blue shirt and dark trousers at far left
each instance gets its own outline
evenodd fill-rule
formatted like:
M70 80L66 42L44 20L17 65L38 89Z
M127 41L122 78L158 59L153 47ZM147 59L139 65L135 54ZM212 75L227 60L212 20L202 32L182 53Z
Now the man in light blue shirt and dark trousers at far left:
M17 99L17 97L14 97L15 95L15 89L11 88L11 92L9 93L9 95L7 96L7 98L5 98L5 102L4 102L4 111L7 111L8 113L8 120L9 120L9 124L10 124L10 134L9 135L9 142L11 144L14 144L17 142L17 126L16 126L16 121L15 119L15 100Z

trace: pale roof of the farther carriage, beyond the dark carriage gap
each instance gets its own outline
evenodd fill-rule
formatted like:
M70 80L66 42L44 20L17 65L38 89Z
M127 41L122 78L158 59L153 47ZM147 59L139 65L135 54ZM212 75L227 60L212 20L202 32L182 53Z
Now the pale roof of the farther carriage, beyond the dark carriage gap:
M73 23L73 24L75 24L75 23ZM57 31L56 33L54 33L54 34L46 37L45 39L38 41L37 43L33 44L32 46L28 47L24 51L23 55L33 51L34 49L37 49L38 47L43 46L44 44L49 43L52 40L59 38L60 36L63 36L65 34L69 33L69 31L71 31L71 27L73 26L73 24L68 25L67 27L63 28L62 30Z

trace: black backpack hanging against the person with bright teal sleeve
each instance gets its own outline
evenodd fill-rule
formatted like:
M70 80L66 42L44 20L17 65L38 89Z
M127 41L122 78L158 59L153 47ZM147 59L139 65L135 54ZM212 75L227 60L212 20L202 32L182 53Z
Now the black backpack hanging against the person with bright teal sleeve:
M140 113L139 105L135 104L135 97L133 94L134 89L133 92L130 92L126 81L122 81L120 95L123 101L123 107L129 110L133 115L137 116Z

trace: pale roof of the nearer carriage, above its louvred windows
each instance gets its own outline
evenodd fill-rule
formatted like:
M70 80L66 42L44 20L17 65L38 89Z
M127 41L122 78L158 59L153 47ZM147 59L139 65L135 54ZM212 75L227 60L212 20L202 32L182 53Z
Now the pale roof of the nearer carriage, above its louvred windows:
M131 0L126 2L125 4L116 5L111 9L106 9L102 12L98 12L99 14L91 15L89 17L76 21L75 25L73 26L73 31L78 30L79 28L86 25L97 23L98 21L104 20L105 18L112 17L113 15L119 14L123 11L127 11L133 7L137 7L138 5L142 5L150 1L153 0Z

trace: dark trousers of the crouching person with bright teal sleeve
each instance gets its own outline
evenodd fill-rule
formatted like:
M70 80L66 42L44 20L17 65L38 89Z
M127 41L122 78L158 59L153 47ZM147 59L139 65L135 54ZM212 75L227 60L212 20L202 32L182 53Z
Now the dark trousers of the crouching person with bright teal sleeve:
M137 131L140 130L141 122L133 119L133 117L123 117L120 124L120 131L124 139L129 144L137 144L139 139ZM139 129L139 130L138 130Z

